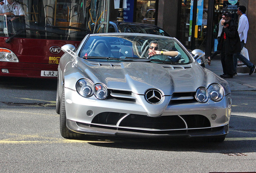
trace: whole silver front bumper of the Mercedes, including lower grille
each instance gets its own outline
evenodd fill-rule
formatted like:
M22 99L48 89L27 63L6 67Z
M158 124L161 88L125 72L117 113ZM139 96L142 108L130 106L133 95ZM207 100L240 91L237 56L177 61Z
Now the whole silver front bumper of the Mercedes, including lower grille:
M161 116L151 117L137 102L86 99L65 88L66 126L76 133L105 136L221 137L229 132L229 99L227 95L216 103L170 103Z

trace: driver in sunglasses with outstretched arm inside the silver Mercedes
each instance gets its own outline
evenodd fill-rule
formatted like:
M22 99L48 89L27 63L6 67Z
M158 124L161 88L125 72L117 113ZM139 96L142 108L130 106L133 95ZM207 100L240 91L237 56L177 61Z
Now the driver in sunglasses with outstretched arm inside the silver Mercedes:
M153 56L155 54L163 54L169 56L169 58L175 58L177 57L180 53L178 51L160 51L159 44L157 41L151 41L150 46L149 46L149 56Z

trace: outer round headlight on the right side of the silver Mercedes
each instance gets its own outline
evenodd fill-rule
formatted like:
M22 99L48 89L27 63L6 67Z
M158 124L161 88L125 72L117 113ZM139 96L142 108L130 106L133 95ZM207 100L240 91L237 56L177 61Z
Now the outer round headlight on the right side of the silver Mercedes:
M224 96L224 89L220 84L211 84L208 88L209 98L213 101L220 101Z

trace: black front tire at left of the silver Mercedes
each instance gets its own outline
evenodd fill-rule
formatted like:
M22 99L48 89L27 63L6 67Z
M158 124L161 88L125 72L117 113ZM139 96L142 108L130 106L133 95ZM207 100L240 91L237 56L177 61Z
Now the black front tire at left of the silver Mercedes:
M66 139L81 139L83 136L80 133L72 132L68 129L66 126L66 108L65 108L65 93L64 93L64 87L62 91L62 98L61 98L61 104L60 104L60 135Z

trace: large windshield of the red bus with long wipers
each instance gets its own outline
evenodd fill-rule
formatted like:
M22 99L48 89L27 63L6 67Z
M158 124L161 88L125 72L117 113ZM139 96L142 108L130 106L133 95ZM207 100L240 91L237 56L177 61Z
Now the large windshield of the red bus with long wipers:
M105 0L17 0L17 4L13 15L0 16L0 36L82 40L106 28L100 27L107 18Z

